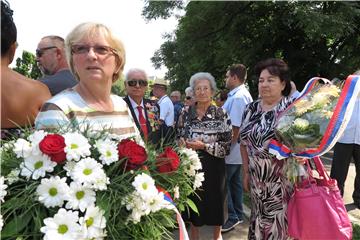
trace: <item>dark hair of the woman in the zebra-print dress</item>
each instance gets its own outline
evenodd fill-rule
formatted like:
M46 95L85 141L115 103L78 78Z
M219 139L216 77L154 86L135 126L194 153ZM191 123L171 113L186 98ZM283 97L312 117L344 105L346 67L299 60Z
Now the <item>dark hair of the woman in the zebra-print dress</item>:
M282 90L283 96L289 96L291 92L290 71L288 65L281 59L269 58L259 62L255 66L255 74L260 77L263 70L268 70L271 75L278 76L282 82L285 82L285 88Z

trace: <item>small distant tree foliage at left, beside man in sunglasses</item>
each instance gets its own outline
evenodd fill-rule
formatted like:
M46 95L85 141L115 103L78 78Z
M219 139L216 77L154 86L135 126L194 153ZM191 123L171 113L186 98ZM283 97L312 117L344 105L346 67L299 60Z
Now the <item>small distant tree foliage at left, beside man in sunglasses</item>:
M23 51L21 58L16 59L16 67L13 70L32 79L42 76L35 55L28 51Z

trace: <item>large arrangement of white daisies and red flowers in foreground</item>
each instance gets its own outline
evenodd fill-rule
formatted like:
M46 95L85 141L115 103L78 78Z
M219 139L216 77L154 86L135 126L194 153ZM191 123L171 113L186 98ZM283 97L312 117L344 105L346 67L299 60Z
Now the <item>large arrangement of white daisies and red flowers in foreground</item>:
M172 239L203 179L196 152L105 130L27 131L1 158L2 239Z

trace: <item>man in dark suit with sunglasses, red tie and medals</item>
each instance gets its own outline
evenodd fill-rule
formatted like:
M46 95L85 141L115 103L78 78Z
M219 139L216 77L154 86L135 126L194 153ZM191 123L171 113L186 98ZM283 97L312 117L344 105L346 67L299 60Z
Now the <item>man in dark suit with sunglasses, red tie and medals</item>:
M147 86L145 71L130 69L125 78L127 96L124 100L144 141L157 145L160 143L160 107L156 102L144 98Z

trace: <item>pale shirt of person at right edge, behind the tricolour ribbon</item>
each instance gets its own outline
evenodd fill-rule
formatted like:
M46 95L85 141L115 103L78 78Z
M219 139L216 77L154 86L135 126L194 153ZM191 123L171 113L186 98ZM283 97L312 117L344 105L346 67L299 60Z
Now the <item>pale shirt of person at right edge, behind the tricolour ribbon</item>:
M360 95L356 99L350 120L338 142L360 145Z

